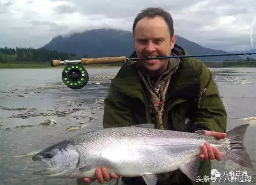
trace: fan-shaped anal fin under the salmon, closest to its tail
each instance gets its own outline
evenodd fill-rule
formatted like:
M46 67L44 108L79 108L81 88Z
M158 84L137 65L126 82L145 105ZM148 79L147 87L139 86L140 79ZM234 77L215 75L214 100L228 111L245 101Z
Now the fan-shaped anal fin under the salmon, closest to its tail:
M196 181L196 177L199 172L199 167L201 165L200 158L197 157L193 161L190 161L189 163L184 164L180 167L180 170L182 173L184 173L190 180Z

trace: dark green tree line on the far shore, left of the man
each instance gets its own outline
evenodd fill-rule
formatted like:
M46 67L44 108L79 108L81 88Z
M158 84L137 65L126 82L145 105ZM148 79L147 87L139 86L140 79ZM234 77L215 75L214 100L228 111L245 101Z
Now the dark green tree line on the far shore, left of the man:
M84 55L83 58L87 58L88 55ZM46 50L44 48L0 48L0 63L46 63L51 60L79 60L81 57L76 54L58 52L55 50Z

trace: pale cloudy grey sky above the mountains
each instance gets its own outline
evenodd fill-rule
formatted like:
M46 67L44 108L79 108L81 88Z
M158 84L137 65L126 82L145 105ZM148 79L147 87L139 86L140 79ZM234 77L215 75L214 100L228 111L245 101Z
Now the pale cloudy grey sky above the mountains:
M174 32L204 47L256 48L256 0L0 0L0 47L38 48L58 35L93 28L132 30L146 7L162 7Z

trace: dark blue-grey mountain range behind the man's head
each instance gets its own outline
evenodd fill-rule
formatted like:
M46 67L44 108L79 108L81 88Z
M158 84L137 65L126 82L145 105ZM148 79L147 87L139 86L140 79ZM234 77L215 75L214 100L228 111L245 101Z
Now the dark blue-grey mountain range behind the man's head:
M191 42L177 36L176 44L182 46L190 55L195 54L227 54L223 50L213 50L204 48L195 42ZM81 33L70 34L69 36L57 36L48 44L43 46L48 50L56 50L58 52L75 53L77 56L83 57L87 55L89 58L105 57L105 56L129 56L134 51L133 35L130 31L116 29L94 29ZM223 60L243 60L240 56L215 56L198 58L205 62Z

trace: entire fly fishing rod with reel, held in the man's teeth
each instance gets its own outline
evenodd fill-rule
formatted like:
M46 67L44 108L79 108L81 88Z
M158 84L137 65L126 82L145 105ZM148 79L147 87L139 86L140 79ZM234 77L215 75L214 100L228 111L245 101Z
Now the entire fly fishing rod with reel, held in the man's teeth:
M89 74L83 65L89 64L114 64L114 63L133 63L140 60L154 60L167 58L196 58L196 57L211 57L211 56L235 56L244 55L247 60L249 55L256 53L229 53L229 54L207 54L207 55L182 55L182 56L158 56L155 58L128 58L120 57L103 57L103 58L81 58L81 60L52 60L51 66L67 65L62 72L62 81L71 89L81 89L89 81Z

